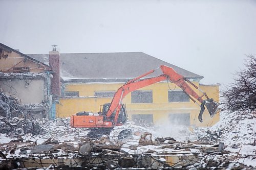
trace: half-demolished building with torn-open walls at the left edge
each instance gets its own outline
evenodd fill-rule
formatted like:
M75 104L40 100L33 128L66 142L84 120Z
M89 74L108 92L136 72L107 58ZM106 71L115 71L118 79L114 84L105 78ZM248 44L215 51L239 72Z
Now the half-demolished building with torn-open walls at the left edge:
M1 92L15 99L24 114L29 113L36 118L50 117L50 66L0 43L0 71ZM8 101L4 95L1 101L2 115L13 117L5 105Z

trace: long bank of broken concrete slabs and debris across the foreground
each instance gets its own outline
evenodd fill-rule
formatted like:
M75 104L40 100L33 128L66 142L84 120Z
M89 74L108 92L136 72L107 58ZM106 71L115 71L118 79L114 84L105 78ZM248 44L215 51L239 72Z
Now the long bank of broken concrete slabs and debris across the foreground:
M151 136L150 133L144 133L141 139L147 135ZM151 138L147 139L151 140ZM165 142L169 139L158 138L157 140ZM151 144L146 145L132 140L110 141L103 137L76 143L59 142L51 137L38 144L36 141L20 138L0 144L0 151L5 150L3 154L6 155L8 163L14 162L13 158L15 158L18 167L50 167L51 165L48 169L70 166L81 169L210 169L211 167L253 169L236 161L237 156L230 155L230 152L218 152L218 145L207 145L198 141L179 142L173 139L165 144L158 144L155 141L151 140Z

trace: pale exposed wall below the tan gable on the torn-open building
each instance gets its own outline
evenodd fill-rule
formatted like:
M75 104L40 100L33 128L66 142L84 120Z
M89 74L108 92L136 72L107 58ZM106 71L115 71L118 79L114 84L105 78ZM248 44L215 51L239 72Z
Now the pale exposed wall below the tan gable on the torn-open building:
M24 113L36 117L48 117L51 105L49 74L0 73L0 89L19 100L25 107Z

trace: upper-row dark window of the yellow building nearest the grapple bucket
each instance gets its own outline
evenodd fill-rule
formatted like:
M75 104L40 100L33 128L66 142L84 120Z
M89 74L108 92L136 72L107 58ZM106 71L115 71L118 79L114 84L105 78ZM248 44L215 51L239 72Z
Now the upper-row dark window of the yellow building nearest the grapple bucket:
M184 91L168 91L168 102L189 102L189 96Z

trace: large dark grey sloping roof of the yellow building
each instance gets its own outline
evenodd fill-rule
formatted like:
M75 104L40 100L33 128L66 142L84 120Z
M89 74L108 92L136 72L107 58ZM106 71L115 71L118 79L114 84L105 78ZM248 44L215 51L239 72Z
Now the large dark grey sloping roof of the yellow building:
M46 64L49 63L49 54L28 54L28 56ZM60 54L60 65L62 79L76 79L81 82L124 81L138 77L160 65L172 67L186 78L203 78L142 52ZM160 71L152 74L152 76L159 75L161 75Z

